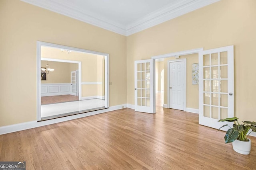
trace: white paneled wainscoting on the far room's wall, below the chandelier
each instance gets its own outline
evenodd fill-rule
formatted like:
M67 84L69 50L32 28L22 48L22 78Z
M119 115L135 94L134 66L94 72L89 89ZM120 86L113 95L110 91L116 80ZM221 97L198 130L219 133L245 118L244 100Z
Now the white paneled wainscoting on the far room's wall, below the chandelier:
M41 96L67 95L71 89L70 83L41 84Z

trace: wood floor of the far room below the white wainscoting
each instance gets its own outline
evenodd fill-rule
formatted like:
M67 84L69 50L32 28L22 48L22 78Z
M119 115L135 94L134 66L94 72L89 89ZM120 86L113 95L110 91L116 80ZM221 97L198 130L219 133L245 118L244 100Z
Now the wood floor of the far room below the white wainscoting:
M78 101L78 96L60 95L60 96L41 97L41 105L62 103L62 102L72 102L72 101Z

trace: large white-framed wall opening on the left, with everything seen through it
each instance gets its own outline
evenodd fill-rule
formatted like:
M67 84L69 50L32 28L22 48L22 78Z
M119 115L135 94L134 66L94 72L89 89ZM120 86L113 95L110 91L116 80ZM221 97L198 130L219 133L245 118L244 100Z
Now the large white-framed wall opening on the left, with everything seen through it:
M38 121L108 108L108 54L38 41Z

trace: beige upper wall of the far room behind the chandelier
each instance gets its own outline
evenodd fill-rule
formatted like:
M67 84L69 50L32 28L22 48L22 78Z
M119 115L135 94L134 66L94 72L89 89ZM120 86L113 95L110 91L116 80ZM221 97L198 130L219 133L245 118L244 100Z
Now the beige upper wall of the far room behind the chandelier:
M41 67L45 68L47 63L50 68L54 68L54 71L46 75L46 80L41 80L42 84L70 83L71 71L78 70L78 64L56 61L41 61Z

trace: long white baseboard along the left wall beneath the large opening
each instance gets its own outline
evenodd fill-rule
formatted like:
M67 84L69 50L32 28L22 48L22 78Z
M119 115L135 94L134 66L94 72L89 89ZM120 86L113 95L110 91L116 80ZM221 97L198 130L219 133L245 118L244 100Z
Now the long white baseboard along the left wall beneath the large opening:
M29 121L29 122L14 124L14 125L2 126L2 127L0 127L0 135L6 134L6 133L22 131L22 130L26 130L26 129L31 129L31 128L35 128L35 127L50 125L50 124L54 124L54 123L60 123L60 122L68 121L68 120L78 119L81 117L97 115L100 113L106 113L109 111L123 109L126 107L127 107L126 104L122 104L122 105L117 105L117 106L111 106L107 109L101 109L101 110L91 111L91 112L87 112L87 113L81 113L81 114L77 114L77 115L60 117L60 118L46 120L46 121L40 121L40 122Z

